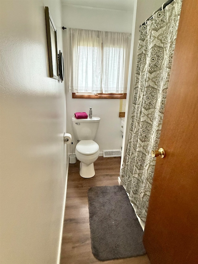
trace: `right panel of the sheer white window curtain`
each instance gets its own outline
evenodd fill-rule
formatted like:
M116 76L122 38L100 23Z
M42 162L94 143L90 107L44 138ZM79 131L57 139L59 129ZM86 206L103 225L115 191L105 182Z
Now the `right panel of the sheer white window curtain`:
M102 91L127 93L131 34L102 32Z

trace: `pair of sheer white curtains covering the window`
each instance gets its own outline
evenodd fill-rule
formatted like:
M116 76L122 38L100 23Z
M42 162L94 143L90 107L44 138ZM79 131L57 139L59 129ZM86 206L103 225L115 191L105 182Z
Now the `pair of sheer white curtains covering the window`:
M67 28L66 41L70 92L127 92L130 33Z

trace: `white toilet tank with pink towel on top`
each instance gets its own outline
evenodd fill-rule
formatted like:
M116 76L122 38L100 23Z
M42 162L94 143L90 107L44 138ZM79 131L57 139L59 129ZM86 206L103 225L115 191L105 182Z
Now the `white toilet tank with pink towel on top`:
M97 135L100 117L76 119L72 117L74 134L78 140L94 140Z

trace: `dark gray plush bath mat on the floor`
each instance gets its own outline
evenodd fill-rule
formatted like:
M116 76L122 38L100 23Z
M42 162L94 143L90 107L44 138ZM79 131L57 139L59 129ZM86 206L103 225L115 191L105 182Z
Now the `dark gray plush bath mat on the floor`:
M102 261L146 253L143 230L123 186L95 186L88 190L93 255Z

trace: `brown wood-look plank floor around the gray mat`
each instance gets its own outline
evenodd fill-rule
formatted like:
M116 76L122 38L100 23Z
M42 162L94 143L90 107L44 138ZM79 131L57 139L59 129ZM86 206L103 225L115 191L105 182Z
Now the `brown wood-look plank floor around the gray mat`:
M69 164L67 198L62 238L61 264L130 263L150 264L147 255L101 262L91 250L87 191L91 186L118 185L120 157L99 157L94 162L96 175L79 175L80 162Z

